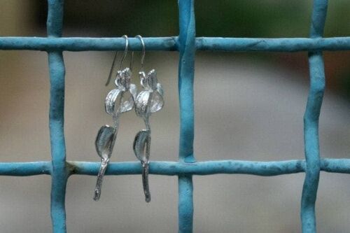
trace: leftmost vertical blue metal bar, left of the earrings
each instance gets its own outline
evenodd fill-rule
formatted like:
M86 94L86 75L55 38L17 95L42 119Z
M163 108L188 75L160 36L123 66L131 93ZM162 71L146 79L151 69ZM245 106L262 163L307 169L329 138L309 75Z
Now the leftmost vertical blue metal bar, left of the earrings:
M48 0L48 37L62 36L63 0ZM64 60L62 51L48 51L50 72L50 143L52 156L51 219L54 233L66 232L66 146L64 143Z

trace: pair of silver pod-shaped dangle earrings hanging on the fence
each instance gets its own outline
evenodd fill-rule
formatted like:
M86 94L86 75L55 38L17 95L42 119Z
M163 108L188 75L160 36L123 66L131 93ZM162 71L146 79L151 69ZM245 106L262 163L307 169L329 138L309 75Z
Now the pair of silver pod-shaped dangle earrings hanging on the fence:
M113 118L113 126L104 125L101 127L95 141L97 154L99 157L101 157L101 167L99 169L99 174L97 175L97 183L94 190L94 200L98 201L99 197L101 196L102 181L113 152L113 146L116 143L120 115L121 113L131 111L132 108L135 108L136 114L144 120L146 129L142 129L135 136L133 149L137 159L141 162L142 184L144 187L146 202L151 202L151 193L149 191L148 185L149 158L151 148L150 116L152 113L160 111L164 105L163 89L162 85L158 83L154 69L149 71L147 74L144 71L146 47L144 39L138 35L136 38L139 38L142 45L141 69L139 71L139 78L143 90L137 93L136 85L131 83L132 61L134 52L132 52L130 59L130 67L123 69L123 62L127 56L127 50L129 48L129 39L126 35L124 35L123 38L125 38L125 50L120 61L119 70L116 74L116 89L111 90L109 94L107 94L104 105L106 113L111 115ZM116 65L117 56L118 52L116 52L116 55L114 56L106 86L109 85L111 77L113 76L113 69Z

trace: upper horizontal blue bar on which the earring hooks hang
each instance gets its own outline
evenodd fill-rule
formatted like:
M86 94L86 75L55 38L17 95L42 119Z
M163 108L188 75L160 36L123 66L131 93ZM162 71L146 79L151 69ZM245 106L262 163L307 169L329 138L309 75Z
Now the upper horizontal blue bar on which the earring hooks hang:
M146 50L176 51L178 37L144 38ZM0 50L62 50L62 51L108 51L124 50L123 38L45 38L45 37L0 37ZM338 51L350 50L350 37L332 38L221 38L197 37L197 50L210 51ZM130 38L130 50L141 50L137 38Z

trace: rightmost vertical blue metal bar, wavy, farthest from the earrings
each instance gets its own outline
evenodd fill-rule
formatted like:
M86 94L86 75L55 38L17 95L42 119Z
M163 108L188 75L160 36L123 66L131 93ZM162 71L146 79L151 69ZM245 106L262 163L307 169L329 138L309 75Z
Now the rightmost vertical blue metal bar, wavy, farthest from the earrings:
M311 38L323 35L328 0L314 0L311 18ZM302 232L316 232L315 204L320 176L320 151L318 141L318 118L325 90L325 73L322 52L309 52L310 90L304 113L304 150L307 162L302 188Z

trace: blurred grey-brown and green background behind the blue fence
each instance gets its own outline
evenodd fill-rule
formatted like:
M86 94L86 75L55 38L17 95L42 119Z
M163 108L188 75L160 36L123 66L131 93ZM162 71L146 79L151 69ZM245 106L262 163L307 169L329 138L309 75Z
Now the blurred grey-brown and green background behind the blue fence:
M197 36L307 37L311 0L197 1ZM349 36L350 1L330 1L325 36ZM45 36L43 0L0 0L0 36ZM177 1L65 3L63 36L176 36ZM113 52L64 52L68 160L98 162L94 139L111 124L104 113ZM178 158L177 52L147 52L165 87L165 108L151 118L151 160ZM349 157L350 53L324 52L326 85L320 119L322 157ZM139 55L134 60L139 68ZM302 117L309 74L307 52L197 52L195 156L205 160L304 158ZM134 83L138 83L134 76ZM0 51L0 160L50 160L49 79L45 52ZM112 161L135 161L132 141L144 127L122 115ZM300 232L304 174L276 177L195 176L194 232ZM71 176L68 232L177 232L177 178L150 176L146 204L141 176L107 176L92 200L96 177ZM321 173L318 232L349 232L349 175ZM0 177L1 232L51 232L50 176Z

